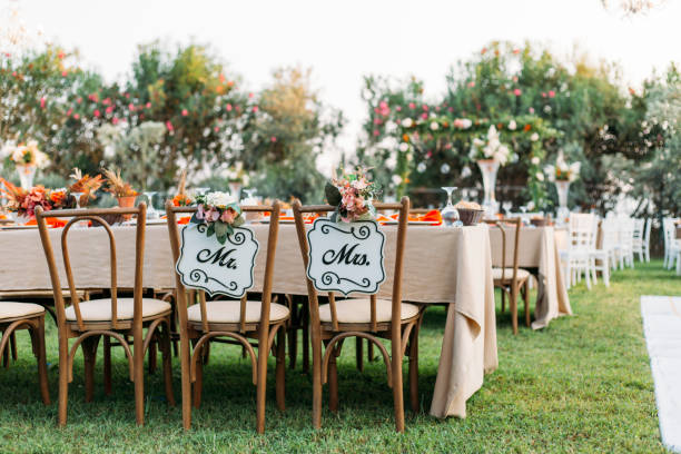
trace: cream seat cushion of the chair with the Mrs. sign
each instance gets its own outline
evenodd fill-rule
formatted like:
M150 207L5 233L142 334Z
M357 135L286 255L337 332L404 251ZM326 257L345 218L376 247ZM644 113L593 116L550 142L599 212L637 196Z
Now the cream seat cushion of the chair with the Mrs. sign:
M376 300L376 322L389 322L392 317L393 302L389 299ZM418 306L402 303L402 319L412 318L418 314ZM353 298L336 302L336 316L338 323L372 323L372 305L369 298ZM332 323L330 306L319 306L319 320Z

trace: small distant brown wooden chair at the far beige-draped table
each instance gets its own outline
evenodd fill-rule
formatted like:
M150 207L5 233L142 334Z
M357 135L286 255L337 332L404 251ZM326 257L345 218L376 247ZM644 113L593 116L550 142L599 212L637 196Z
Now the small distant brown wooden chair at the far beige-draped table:
M492 276L494 278L494 287L500 288L502 292L502 312L504 312L505 299L509 297L509 308L511 310L511 324L513 326L513 334L517 334L517 295L522 293L525 303L525 325L530 326L530 272L523 268L519 268L519 248L520 248L520 230L522 227L522 219L504 219L493 220L486 219L486 224L496 226L501 230L502 235L502 266L492 268ZM506 266L506 234L509 228L514 228L514 241L513 241L513 266Z

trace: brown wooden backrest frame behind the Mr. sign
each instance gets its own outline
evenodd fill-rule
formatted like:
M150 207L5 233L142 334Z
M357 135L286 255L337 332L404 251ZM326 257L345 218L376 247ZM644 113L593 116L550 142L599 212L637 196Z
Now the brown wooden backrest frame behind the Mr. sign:
M196 213L197 207L176 207L172 206L172 201L166 203L166 215L168 216L168 234L170 236L170 247L172 248L172 258L174 264L177 264L179 259L180 253L180 236L179 228L177 226L177 215L178 214L194 214ZM278 200L275 200L272 205L268 206L243 206L241 211L244 213L268 213L269 214L269 233L267 237L267 258L265 261L265 278L263 282L263 300L260 307L260 328L267 327L269 324L269 308L272 304L272 285L273 285L273 276L274 276L274 259L275 251L277 249L277 238L279 234L279 214L280 214L280 204ZM181 329L185 329L188 323L187 315L187 288L182 284L179 278L177 272L175 273L175 287L177 289L177 302L178 307L177 312L179 315L179 322ZM208 333L208 319L206 316L206 293L204 290L197 290L198 294L198 303L196 300L189 302L191 305L199 304L200 314L201 314L201 329L204 333ZM244 295L240 298L240 308L239 308L239 330L244 333L246 330L246 302L247 295Z

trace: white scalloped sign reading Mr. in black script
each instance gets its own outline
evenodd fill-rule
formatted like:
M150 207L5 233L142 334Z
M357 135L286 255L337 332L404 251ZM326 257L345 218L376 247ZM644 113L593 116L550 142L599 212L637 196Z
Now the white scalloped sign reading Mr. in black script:
M253 287L259 244L253 230L235 227L225 244L207 236L205 224L182 228L177 273L187 288L240 298Z

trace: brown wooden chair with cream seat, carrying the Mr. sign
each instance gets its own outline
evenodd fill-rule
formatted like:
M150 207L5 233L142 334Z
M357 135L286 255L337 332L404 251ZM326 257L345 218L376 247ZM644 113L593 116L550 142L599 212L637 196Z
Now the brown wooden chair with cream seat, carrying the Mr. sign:
M166 204L168 231L175 263L179 259L180 253L176 214L195 213L196 209L197 207L174 207L170 201ZM241 345L248 353L253 368L253 384L256 385L256 428L260 434L265 432L267 358L269 357L269 352L274 348L277 359L275 373L277 406L280 411L285 409L286 323L290 313L288 307L272 303L280 206L278 201L275 201L272 206L245 206L241 209L245 213L270 214L261 302L248 300L246 295L239 302L206 302L205 292L187 292L177 273L175 276L180 332L180 363L182 368L182 423L186 430L191 426L193 398L195 407L198 408L200 405L203 359L210 342L223 340ZM198 303L193 298L187 298L188 293L196 294ZM189 307L188 300L191 304ZM224 337L229 339L224 339ZM257 344L251 344L248 338L257 339ZM194 343L193 353L189 348L190 342ZM258 348L257 359L254 347ZM191 383L194 383L194 396L191 395Z

